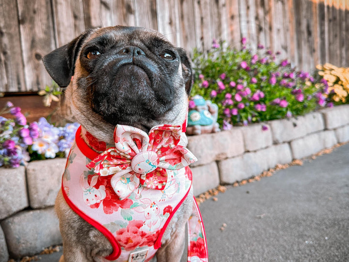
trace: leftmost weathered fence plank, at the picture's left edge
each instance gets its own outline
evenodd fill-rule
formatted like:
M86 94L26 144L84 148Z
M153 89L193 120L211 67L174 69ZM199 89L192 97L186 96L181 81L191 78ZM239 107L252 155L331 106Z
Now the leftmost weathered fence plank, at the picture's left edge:
M0 0L0 92L26 90L16 1Z

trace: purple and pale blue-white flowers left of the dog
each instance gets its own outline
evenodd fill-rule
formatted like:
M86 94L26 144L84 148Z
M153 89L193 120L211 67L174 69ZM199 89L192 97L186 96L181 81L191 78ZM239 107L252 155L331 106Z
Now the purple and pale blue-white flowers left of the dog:
M69 153L78 123L57 128L41 117L28 124L21 109L11 102L0 111L6 113L13 118L0 116L0 166L18 167L31 160L64 157Z

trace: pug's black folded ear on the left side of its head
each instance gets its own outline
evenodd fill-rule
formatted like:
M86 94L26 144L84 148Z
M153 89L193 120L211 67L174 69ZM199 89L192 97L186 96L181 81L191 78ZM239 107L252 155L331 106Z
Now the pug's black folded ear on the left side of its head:
M78 57L79 48L83 40L93 31L89 29L80 34L70 43L53 50L42 59L48 74L61 87L70 83L74 75L75 61Z

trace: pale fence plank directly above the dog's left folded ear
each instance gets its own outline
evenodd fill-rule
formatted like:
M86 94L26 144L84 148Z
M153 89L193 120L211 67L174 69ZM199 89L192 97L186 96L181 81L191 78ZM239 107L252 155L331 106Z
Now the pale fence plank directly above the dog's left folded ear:
M53 0L57 46L63 46L85 30L82 0Z

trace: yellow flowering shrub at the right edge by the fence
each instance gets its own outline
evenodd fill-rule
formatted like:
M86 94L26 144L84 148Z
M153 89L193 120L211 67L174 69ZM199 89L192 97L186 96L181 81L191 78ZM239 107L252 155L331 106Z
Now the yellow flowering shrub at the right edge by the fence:
M323 79L317 84L318 88L327 89L327 100L336 104L349 102L349 67L337 67L329 63L317 65L317 73Z

